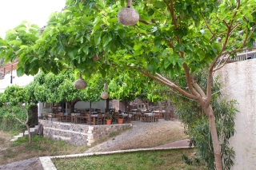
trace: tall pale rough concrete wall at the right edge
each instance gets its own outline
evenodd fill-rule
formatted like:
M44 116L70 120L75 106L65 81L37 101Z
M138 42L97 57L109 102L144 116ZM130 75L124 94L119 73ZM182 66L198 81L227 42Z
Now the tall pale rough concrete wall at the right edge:
M222 94L237 100L240 111L235 118L236 132L230 139L236 154L232 169L256 169L256 59L227 64L217 74Z

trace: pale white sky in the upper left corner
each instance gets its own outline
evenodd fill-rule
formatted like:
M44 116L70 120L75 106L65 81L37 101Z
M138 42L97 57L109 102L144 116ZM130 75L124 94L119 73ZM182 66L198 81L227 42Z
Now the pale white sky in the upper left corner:
M0 0L0 37L24 20L41 28L51 13L64 6L65 0Z

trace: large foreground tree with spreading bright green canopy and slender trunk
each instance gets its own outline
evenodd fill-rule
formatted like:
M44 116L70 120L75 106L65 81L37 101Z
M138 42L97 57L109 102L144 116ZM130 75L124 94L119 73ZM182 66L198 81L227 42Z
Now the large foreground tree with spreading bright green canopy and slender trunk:
M12 50L16 46L10 38L19 40L14 30L0 41L0 56L11 61L20 56L19 75L38 69L58 73L66 65L85 76L134 70L177 90L198 101L208 117L216 169L222 169L211 106L213 74L254 41L256 2L136 0L139 22L122 26L117 15L123 2L67 0L32 47L30 43ZM206 90L194 77L202 68L208 74ZM171 81L179 77L186 78L185 89Z

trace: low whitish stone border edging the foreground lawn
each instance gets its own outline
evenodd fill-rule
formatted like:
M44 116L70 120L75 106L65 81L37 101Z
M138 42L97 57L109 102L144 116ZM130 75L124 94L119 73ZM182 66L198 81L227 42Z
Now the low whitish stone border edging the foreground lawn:
M90 152L90 153L80 153L80 154L63 155L63 156L44 156L44 157L39 157L39 160L41 161L42 169L57 170L57 168L54 166L54 163L51 161L51 159L63 159L63 158L74 158L74 157L95 156L95 155L109 155L109 154L123 153L123 152L168 150L168 149L179 149L179 148L194 148L194 147L183 146L183 147L170 147L170 148L137 148L137 149L130 149L130 150L110 151L110 152Z

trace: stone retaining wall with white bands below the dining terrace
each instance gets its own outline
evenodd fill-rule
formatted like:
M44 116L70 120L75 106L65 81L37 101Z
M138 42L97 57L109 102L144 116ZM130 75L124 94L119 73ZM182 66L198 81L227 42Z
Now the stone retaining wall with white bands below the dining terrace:
M43 136L52 140L64 140L68 144L91 145L95 140L108 137L110 132L121 132L131 124L79 125L59 121L39 120L43 125Z

